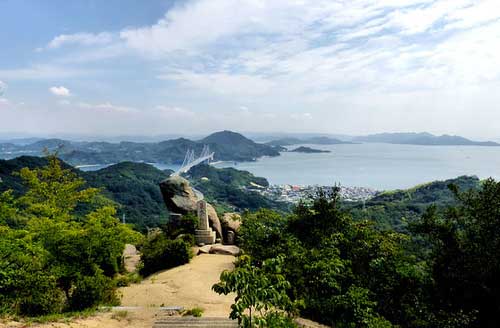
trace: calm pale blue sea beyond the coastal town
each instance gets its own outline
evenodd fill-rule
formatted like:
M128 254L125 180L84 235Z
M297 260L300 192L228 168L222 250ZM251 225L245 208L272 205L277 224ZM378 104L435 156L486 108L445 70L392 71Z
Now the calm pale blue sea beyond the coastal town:
M296 148L299 145L290 148ZM377 190L410 188L434 180L476 175L500 179L500 147L414 146L391 144L304 145L331 153L284 152L255 162L223 162L265 177L271 184L370 187ZM172 165L153 164L160 169ZM96 170L104 166L82 167Z

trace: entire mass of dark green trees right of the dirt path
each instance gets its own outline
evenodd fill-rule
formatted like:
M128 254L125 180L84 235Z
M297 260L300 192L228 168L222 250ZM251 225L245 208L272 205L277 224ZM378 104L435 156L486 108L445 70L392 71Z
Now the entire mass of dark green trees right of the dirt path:
M288 217L247 213L240 245L254 267L280 259L301 315L332 327L498 327L500 182L450 193L454 205L431 206L411 224L418 239L354 220L334 190Z

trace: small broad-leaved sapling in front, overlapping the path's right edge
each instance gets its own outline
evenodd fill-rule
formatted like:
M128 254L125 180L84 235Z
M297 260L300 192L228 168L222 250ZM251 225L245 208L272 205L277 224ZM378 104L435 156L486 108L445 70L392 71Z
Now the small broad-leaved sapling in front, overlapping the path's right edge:
M291 285L281 272L282 265L281 257L257 267L248 256L241 256L233 271L221 274L212 289L218 294L236 293L231 319L238 319L243 327L284 327L279 325L287 322L283 313L293 313L295 304L287 294Z

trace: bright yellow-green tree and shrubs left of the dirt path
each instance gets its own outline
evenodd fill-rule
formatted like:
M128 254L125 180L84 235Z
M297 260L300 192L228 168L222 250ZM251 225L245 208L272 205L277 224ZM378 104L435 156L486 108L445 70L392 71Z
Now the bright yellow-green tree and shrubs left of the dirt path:
M19 176L24 194L2 194L0 311L44 315L116 302L113 277L125 243L141 236L112 207L76 214L82 203L95 205L98 190L55 156Z

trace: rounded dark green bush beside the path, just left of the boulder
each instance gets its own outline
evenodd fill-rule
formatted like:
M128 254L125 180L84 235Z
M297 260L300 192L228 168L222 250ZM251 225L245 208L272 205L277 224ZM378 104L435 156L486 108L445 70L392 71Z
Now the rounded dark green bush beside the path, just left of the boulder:
M189 243L182 239L170 240L164 234L156 234L146 240L142 247L141 274L148 276L160 270L188 263L191 257Z

